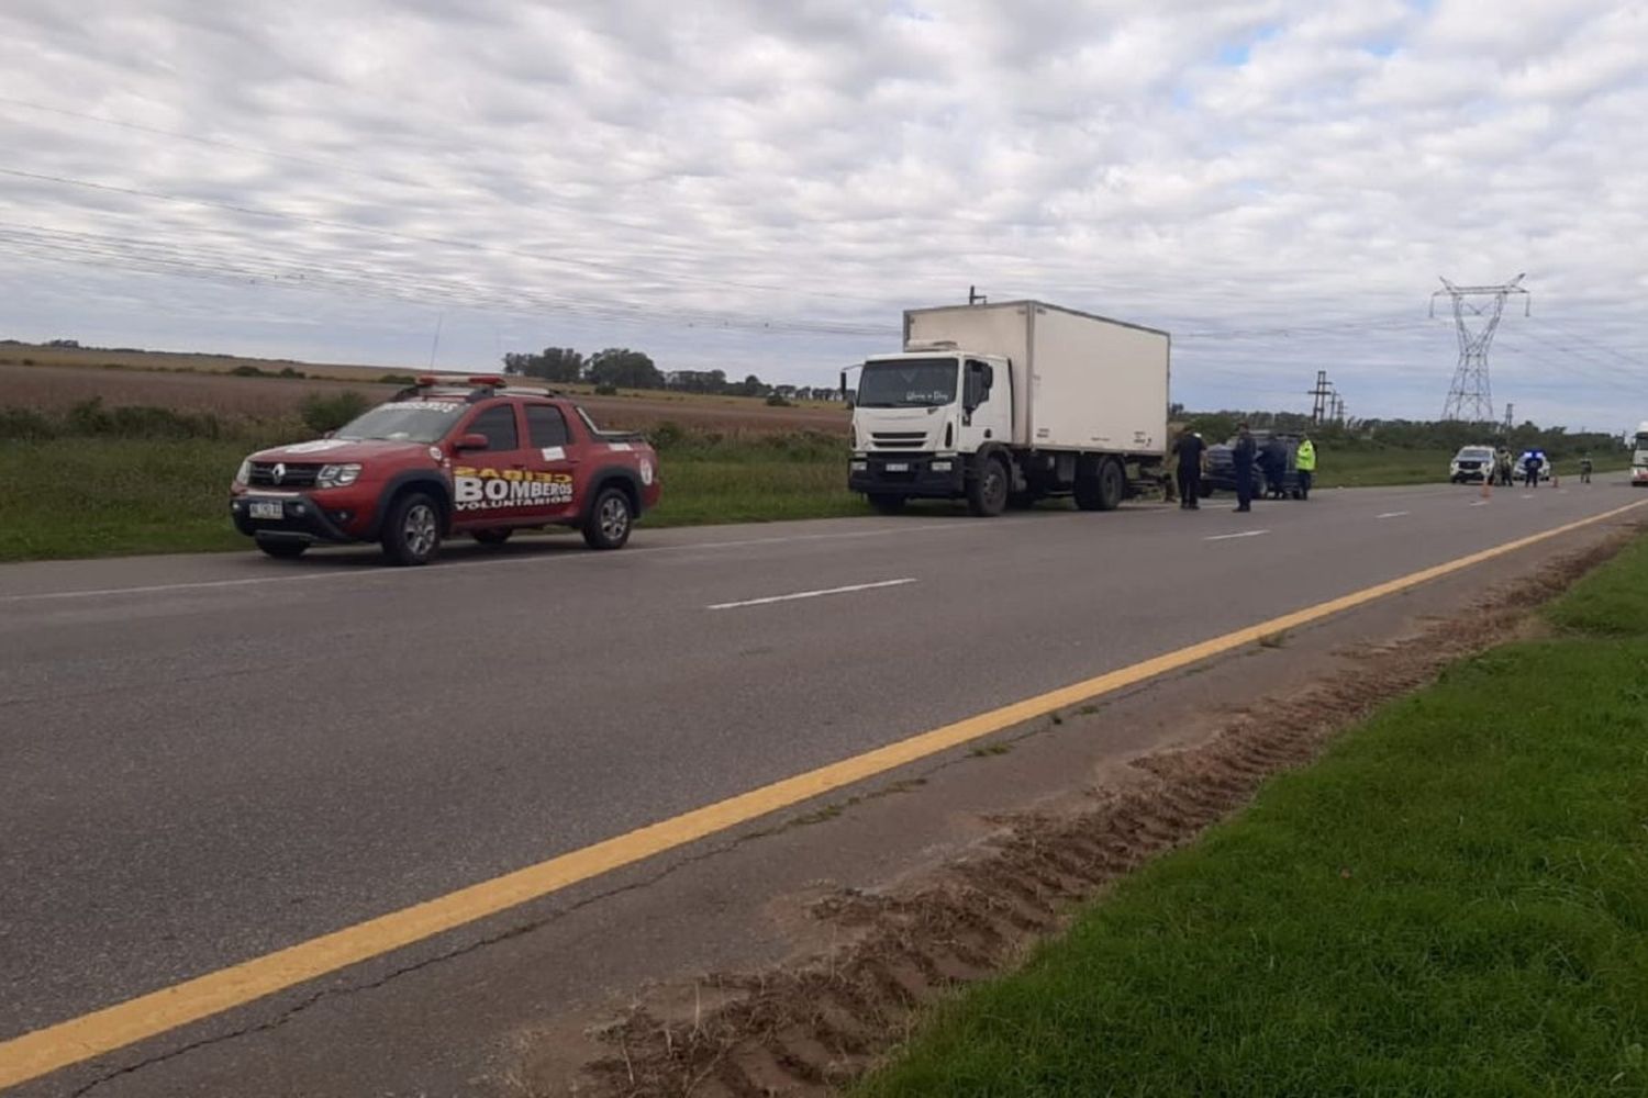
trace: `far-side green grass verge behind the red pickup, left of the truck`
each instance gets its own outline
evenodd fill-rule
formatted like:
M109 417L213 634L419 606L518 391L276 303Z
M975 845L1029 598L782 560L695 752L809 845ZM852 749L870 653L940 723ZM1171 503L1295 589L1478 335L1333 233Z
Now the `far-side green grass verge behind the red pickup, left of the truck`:
M229 479L249 440L73 438L0 443L0 561L247 548ZM845 458L722 448L664 454L648 527L864 515Z

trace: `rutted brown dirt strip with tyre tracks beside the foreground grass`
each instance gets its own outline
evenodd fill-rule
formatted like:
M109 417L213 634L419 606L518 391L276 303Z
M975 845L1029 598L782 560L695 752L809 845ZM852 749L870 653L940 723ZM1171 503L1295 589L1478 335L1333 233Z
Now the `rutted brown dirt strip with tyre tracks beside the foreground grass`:
M990 833L969 849L888 887L829 891L806 915L831 928L832 948L695 976L691 998L684 983L664 984L592 1031L603 1055L570 1078L542 1063L524 1077L527 1091L832 1093L903 1039L920 1007L1014 966L1066 924L1076 902L1193 840L1241 808L1269 775L1309 762L1335 733L1389 698L1432 682L1463 655L1536 629L1529 609L1612 556L1628 537L1613 532L1531 573L1501 578L1490 593L1447 616L1414 621L1401 635L1369 629L1366 640L1333 654L1343 667L1327 668L1307 655L1309 682L1267 691L1252 708L1226 710L1216 728L1192 731L1187 723L1195 742L1099 764L1099 780L1081 793L990 815ZM1252 662L1322 640L1279 639ZM1223 670L1244 662L1238 657ZM1079 736L1083 726L1098 731L1111 716L1106 710L1063 716L1051 731ZM687 1003L691 1012L682 1009Z

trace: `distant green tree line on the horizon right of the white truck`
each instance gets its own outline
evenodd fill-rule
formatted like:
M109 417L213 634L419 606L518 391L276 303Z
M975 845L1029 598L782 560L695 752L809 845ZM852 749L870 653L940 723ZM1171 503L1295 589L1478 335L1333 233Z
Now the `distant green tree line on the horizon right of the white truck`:
M1341 449L1454 449L1460 446L1508 446L1544 449L1551 458L1580 453L1605 454L1625 446L1625 440L1607 431L1574 431L1566 426L1539 426L1524 421L1505 430L1503 423L1460 423L1457 420L1355 420L1312 426L1300 412L1185 412L1173 407L1173 421L1201 431L1208 443L1220 443L1246 421L1252 430L1309 433L1323 446Z

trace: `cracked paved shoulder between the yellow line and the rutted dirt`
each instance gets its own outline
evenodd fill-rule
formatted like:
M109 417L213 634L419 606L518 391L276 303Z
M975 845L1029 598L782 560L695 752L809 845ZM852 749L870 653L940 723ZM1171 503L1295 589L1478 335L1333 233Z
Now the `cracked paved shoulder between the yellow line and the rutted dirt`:
M160 1060L112 1078L97 1093L562 1093L590 1063L605 1065L597 1073L611 1072L628 1057L628 1073L638 1060L649 1062L656 1050L639 1037L654 1026L654 1035L661 1035L664 1022L674 1029L658 1070L700 1070L697 1047L689 1054L681 1045L684 1034L714 1026L722 1034L715 1047L727 1049L725 1037L737 1032L740 1011L748 1017L770 1003L751 996L751 986L799 981L819 963L839 973L844 950L882 956L882 968L872 965L865 973L890 996L887 1003L908 999L890 1014L898 1017L946 981L994 968L995 950L1012 955L1058 925L1056 909L1065 900L1056 900L1048 915L1038 889L1053 889L1065 871L1028 886L1027 894L1022 877L994 879L987 868L992 859L1022 853L1025 843L1045 843L1071 820L1127 798L1162 802L1150 790L1175 775L1135 761L1206 744L1254 714L1269 719L1299 708L1343 714L1346 700L1323 705L1309 691L1332 682L1343 688L1346 677L1366 677L1369 662L1391 645L1406 654L1396 658L1409 660L1406 672L1391 680L1394 686L1419 685L1434 665L1414 665L1412 652L1414 645L1430 644L1417 637L1439 627L1434 619L1480 619L1488 591L1500 591L1495 606L1513 611L1561 575L1549 566L1547 550L1595 547L1617 535L1620 525L1580 530L1549 547L1488 561L1468 575L1111 696L1093 711L1083 706L1061 713L1056 723L1042 719L971 751L908 767L847 802L808 805L788 818L765 820L531 904L483 927L480 945L475 935L461 945L433 940L320 989L277 996L255 1011L198 1027L185 1055L158 1054ZM1261 756L1276 751L1277 764L1300 757L1294 747L1259 747ZM1173 808L1173 818L1134 812L1145 841L1121 841L1106 864L1121 871L1182 841L1238 803L1264 774L1251 761L1215 762L1206 770L1213 785L1196 787L1201 792ZM1193 770L1188 777L1203 780L1195 777L1201 770ZM962 872L957 866L971 868ZM1073 877L1058 887L1074 897L1103 887L1104 879L1081 884ZM898 930L900 920L908 937L908 914L931 910L915 897L934 887L971 896L957 891L962 886L1004 889L997 897L1000 919L1012 932L999 932L995 947L981 945L971 960L934 960L934 971L921 963L888 966L885 950L865 945ZM995 902L984 910L995 912ZM895 986L901 991L895 993ZM875 1052L868 1037L847 1035L849 1045L862 1047L854 1057ZM794 1040L803 1050L816 1054L817 1045L829 1052L816 1035L803 1032ZM717 1065L727 1058L722 1055ZM742 1062L756 1073L766 1072L768 1062L819 1067L816 1055L809 1060L796 1049L755 1047ZM850 1057L844 1063L850 1068Z

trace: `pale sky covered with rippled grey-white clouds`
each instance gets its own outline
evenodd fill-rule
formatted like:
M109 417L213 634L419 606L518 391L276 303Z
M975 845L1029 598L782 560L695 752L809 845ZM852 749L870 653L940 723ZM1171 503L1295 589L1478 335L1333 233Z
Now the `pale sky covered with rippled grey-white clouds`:
M1648 418L1643 0L7 0L0 72L0 336L824 384L977 285L1432 418L1526 272L1496 405Z

